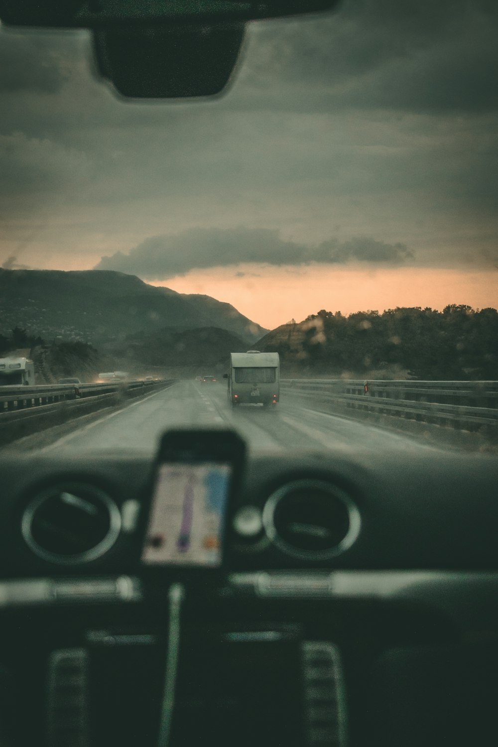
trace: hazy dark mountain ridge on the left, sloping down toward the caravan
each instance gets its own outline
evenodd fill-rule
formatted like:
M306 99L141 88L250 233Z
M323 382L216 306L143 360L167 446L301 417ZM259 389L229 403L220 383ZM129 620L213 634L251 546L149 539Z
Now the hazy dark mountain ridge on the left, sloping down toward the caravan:
M229 303L156 288L125 273L0 269L0 333L16 326L47 340L92 344L166 327L218 327L247 344L267 332Z

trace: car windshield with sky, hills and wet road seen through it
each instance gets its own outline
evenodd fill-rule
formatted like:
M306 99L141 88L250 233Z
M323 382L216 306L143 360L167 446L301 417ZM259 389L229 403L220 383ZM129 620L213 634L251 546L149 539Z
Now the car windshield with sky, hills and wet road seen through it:
M222 96L140 102L89 31L1 29L0 417L66 403L1 445L494 448L497 20L345 0L249 23ZM231 376L249 350L278 365Z

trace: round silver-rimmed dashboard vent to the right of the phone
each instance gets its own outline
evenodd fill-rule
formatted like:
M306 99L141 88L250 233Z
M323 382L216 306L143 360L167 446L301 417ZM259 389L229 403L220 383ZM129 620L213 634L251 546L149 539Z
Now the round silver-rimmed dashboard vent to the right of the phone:
M321 480L296 480L270 495L263 524L270 541L285 553L327 560L355 542L361 520L340 488Z

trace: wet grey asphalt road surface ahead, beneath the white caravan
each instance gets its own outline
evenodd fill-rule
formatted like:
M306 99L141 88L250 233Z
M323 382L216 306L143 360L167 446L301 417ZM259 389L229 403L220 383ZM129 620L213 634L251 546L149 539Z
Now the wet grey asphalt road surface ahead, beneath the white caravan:
M124 409L96 421L45 447L71 450L134 450L154 453L158 438L169 428L231 427L249 450L284 451L290 448L323 450L358 446L372 450L428 448L412 438L338 415L316 412L295 394L283 394L273 409L242 405L231 409L225 382L177 382Z

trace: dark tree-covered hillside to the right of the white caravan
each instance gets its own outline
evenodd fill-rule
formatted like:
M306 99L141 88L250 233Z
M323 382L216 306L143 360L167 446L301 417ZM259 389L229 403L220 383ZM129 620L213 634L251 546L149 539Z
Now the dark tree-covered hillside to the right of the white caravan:
M498 379L497 309L446 306L318 311L265 335L284 375L346 378Z

